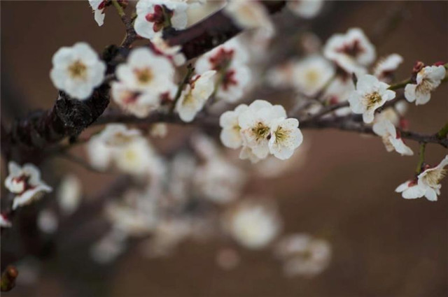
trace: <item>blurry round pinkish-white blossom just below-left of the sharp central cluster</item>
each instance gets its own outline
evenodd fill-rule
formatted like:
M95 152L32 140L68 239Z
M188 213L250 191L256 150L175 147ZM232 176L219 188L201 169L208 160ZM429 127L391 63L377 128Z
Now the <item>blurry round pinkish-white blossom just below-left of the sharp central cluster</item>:
M201 196L225 204L238 198L246 175L223 159L213 159L197 168L194 179Z

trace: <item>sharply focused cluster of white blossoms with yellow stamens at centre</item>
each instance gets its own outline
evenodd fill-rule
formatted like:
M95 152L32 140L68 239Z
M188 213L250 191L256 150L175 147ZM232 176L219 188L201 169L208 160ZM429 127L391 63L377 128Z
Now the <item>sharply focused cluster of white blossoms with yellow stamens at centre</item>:
M289 159L303 140L299 121L287 118L282 106L264 100L226 111L219 124L223 144L233 149L242 146L239 157L252 162L265 159L268 154Z

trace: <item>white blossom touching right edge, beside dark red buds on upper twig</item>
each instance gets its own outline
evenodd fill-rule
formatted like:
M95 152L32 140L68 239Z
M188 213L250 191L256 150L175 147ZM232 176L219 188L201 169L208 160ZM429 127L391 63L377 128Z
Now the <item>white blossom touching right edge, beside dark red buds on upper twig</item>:
M407 101L416 105L428 103L431 92L440 85L440 81L447 74L444 66L426 66L417 73L416 84L407 84L405 97Z

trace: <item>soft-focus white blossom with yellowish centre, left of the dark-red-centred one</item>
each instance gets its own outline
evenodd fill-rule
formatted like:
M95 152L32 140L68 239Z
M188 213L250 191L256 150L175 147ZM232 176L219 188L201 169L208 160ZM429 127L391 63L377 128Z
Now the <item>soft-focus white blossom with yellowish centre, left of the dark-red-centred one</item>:
M315 96L335 75L335 67L319 55L311 55L293 66L293 85L306 96Z

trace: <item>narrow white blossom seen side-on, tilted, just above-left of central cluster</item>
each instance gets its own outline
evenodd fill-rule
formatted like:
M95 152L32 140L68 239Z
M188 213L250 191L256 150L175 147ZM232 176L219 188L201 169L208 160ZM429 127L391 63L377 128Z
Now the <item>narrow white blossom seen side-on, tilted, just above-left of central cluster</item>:
M214 91L216 71L207 71L195 77L186 85L176 102L176 111L184 122L191 122Z

